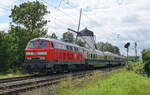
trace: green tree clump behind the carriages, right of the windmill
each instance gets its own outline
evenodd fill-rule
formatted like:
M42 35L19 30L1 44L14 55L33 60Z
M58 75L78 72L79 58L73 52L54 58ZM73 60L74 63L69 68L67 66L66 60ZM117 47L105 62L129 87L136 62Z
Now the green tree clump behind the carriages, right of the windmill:
M110 44L108 42L106 42L106 43L98 42L97 48L98 48L98 50L103 51L103 52L109 51L109 52L120 55L120 49L117 46L113 46L112 44Z

